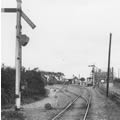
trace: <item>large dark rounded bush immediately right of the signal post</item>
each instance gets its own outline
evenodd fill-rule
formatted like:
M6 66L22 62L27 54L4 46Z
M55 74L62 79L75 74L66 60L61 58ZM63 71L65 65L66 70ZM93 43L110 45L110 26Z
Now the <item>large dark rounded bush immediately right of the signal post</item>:
M26 89L22 91L23 99L39 100L39 96L45 96L44 82L39 71L27 70L24 73L24 79L26 84L23 84Z

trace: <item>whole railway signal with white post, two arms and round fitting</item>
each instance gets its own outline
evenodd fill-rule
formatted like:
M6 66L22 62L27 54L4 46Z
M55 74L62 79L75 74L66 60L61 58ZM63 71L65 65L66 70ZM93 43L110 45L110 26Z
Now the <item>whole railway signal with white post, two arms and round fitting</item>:
M27 17L27 15L22 11L21 0L17 1L17 8L2 8L1 12L7 13L17 13L17 25L16 25L16 56L15 56L15 66L16 66L16 84L15 84L15 110L20 110L21 107L21 93L20 93L20 79L21 79L21 66L22 66L22 46L27 45L29 37L22 34L21 29L21 17L30 25L32 29L36 26Z

